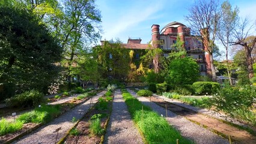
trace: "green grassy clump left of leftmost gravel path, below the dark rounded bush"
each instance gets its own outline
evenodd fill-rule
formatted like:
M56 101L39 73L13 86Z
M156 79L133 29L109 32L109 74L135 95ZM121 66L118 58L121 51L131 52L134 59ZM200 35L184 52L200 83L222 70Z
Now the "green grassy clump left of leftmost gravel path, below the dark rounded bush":
M41 107L36 107L31 112L23 113L19 118L17 118L17 121L22 121L23 123L46 123L59 115L59 113L60 107L58 105L43 105Z

